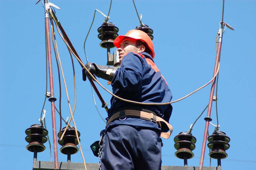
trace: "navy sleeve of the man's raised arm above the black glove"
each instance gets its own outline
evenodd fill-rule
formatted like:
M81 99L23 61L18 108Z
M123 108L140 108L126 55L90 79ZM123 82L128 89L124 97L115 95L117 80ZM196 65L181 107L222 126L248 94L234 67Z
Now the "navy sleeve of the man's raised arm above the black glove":
M142 57L136 53L128 53L123 57L120 68L111 82L113 88L128 92L136 92L141 87L143 70Z

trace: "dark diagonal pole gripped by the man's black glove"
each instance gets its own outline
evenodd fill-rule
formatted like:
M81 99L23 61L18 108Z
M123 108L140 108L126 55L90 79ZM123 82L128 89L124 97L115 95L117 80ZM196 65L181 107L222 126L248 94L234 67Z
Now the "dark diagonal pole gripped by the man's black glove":
M51 9L50 9L50 10L51 10ZM54 13L54 12L51 12L51 13L53 14L54 18L56 19L57 25L58 25L58 27L59 27L59 29L60 29L60 31L61 31L63 37L66 39L67 44L69 45L69 47L71 48L71 50L75 53L75 55L77 56L77 58L81 61L81 63L83 63L82 60L81 60L81 58L80 58L79 55L77 54L76 49L74 48L74 46L72 45L71 41L69 40L69 38L68 38L68 36L67 36L65 30L63 29L62 25L60 24L59 20L57 19L55 13ZM83 68L83 65L82 65L82 64L80 64L80 65L81 65L81 67ZM91 83L91 85L92 85L92 87L93 87L95 93L97 94L97 96L98 96L98 98L99 98L99 100L100 100L100 102L101 102L101 104L102 104L101 107L104 107L105 110L108 112L108 103L106 103L106 102L104 101L103 97L102 97L101 94L99 93L99 90L97 89L97 87L96 87L95 83L93 82L93 80L92 80L90 77L88 77L88 76L87 76L87 78L88 78L89 82Z

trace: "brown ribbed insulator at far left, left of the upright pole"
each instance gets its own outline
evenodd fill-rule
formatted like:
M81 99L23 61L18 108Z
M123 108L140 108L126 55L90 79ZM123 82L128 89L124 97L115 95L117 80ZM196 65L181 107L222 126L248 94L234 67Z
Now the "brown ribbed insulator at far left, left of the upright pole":
M30 152L34 152L34 160L37 157L37 152L43 152L45 150L44 143L47 142L46 136L48 131L41 125L31 125L25 130L25 140L29 143L26 149Z

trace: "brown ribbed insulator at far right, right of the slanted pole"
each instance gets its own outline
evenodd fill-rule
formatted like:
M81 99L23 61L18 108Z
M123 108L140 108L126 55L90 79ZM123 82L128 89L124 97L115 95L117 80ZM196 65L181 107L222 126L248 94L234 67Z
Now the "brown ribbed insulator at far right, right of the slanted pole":
M218 159L218 164L220 159L225 159L228 157L226 150L229 149L230 138L224 132L216 131L213 132L208 138L209 143L207 146L211 149L209 156L213 159Z

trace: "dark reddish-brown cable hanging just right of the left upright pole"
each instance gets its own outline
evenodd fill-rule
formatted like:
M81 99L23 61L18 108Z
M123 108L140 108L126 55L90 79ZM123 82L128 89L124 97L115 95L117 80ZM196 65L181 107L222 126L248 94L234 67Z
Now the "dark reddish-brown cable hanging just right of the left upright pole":
M54 49L54 54L55 54L55 59L56 59L56 65L57 65L57 70L58 70L58 80L59 80L59 112L58 113L60 115L60 128L59 128L58 138L60 138L61 126L62 126L62 121L61 121L61 118L62 118L62 115L61 115L61 80L60 80L59 63L58 63L57 52L56 52L56 48L57 48L56 36L55 36L55 32L54 32L52 19L50 19L50 21L51 21L51 30L52 30L52 44L53 44L53 49Z

